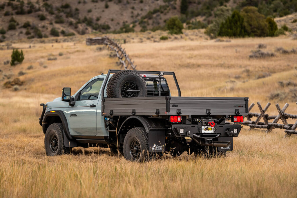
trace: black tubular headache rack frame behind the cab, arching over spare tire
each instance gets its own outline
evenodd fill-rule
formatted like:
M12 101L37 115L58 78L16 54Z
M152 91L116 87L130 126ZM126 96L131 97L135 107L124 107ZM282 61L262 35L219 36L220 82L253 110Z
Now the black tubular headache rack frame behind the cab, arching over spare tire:
M104 84L103 84L103 88L102 88L102 93L101 93L101 98L102 100L104 99L104 90L105 90L105 86L107 84L107 80L110 76L111 73L116 73L116 72L119 72L121 71L121 69L109 69L108 72L107 72L107 75L106 75L106 80L104 81ZM135 72L138 72L139 74L155 74L155 75L159 75L159 77L161 77L161 72L158 72L158 71L139 71L139 70L135 70ZM175 73L174 72L163 72L163 75L172 75L173 76L173 79L174 79L174 82L175 82L175 85L176 85L176 88L177 88L177 91L178 91L178 96L180 97L181 96L181 90L178 86L178 82L176 80L176 76L175 76ZM159 84L159 86L161 86L161 83ZM168 86L169 88L169 86ZM159 92L161 91L161 89L159 90ZM102 101L103 103L104 101ZM104 104L102 105L102 107L104 106ZM103 109L102 109L103 110ZM103 113L103 111L102 111Z

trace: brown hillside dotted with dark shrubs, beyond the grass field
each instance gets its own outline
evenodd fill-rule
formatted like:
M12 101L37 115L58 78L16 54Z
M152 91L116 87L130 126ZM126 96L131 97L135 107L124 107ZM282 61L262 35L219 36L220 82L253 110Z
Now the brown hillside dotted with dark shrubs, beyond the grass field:
M265 18L297 12L297 0L4 0L0 3L0 41L93 31L166 30L165 23L173 16L178 16L187 29L206 28L215 23L220 7L231 12L247 6L257 7Z

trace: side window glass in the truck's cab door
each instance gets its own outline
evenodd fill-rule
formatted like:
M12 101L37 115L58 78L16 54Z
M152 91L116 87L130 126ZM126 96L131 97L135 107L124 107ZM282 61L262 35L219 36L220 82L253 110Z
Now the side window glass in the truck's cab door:
M87 84L81 91L79 100L94 100L99 96L100 88L103 83L104 78L98 78L92 80Z

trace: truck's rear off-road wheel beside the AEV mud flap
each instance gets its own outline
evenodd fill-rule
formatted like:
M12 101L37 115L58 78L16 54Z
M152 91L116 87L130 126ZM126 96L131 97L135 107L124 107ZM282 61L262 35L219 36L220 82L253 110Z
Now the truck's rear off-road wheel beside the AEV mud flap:
M138 143L137 143L138 142ZM136 143L136 144L135 144ZM131 150L133 145L139 145ZM134 147L134 148L135 148ZM129 161L142 162L148 159L149 136L143 127L135 127L128 131L124 139L124 157ZM136 156L139 154L139 157Z

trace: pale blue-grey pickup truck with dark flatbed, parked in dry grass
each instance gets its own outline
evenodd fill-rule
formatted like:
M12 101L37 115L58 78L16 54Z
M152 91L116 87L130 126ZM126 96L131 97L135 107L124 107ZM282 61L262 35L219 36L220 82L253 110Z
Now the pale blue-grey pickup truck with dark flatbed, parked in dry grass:
M166 75L173 76L178 96L171 96ZM132 80L125 80L128 76ZM40 104L39 123L48 156L78 146L110 148L131 161L184 151L224 156L233 150L248 102L247 97L181 97L174 72L109 70L73 95L63 88L62 97Z

